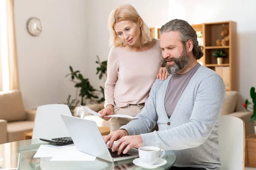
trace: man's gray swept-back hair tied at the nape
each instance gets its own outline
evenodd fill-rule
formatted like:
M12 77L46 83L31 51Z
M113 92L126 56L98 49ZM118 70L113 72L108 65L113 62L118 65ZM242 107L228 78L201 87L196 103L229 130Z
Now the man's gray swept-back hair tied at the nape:
M203 57L204 47L202 45L198 45L196 31L191 25L189 25L188 22L178 19L170 20L168 23L161 27L159 34L163 34L169 31L178 31L180 33L180 41L183 43L183 45L185 45L188 40L192 40L192 52L195 59L200 59Z

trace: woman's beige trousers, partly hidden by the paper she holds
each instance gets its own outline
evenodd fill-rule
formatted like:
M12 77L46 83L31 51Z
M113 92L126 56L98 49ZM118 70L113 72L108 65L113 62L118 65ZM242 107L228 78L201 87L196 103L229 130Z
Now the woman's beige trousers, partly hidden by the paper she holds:
M142 111L144 105L128 105L124 108L117 108L114 111L114 114L125 114L130 116L137 116L138 113ZM121 118L121 117L112 117L110 119L110 132L118 130L121 126L128 124L132 119Z

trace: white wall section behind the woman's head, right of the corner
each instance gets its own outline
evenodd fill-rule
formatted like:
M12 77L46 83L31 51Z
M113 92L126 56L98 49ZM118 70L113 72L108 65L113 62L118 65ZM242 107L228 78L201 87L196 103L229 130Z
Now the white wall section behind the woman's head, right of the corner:
M96 55L98 54L101 60L108 59L110 49L108 17L112 9L124 3L130 3L148 26L162 26L168 21L168 0L89 0L87 2L89 79L92 85L98 88L104 85L104 82L99 81L95 76Z

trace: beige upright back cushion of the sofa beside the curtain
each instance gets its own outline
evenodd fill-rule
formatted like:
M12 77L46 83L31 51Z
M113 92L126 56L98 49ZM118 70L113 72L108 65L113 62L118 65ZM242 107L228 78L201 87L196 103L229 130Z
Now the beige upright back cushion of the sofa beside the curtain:
M20 91L0 92L0 119L7 122L26 119Z

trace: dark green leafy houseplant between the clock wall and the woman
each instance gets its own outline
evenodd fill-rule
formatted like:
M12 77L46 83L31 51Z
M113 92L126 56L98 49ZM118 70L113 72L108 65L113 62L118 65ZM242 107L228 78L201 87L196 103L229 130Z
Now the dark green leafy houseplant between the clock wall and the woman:
M96 70L96 75L99 74L99 79L103 79L107 77L107 64L108 61L101 62L99 56L97 55L96 63L99 65ZM67 102L64 103L69 106L70 111L73 113L76 106L78 106L79 102L80 105L86 105L87 102L90 104L93 103L101 103L105 101L104 96L104 88L102 86L99 87L100 90L93 88L90 84L89 79L84 78L84 76L80 73L79 70L74 71L73 67L70 65L69 67L70 73L67 74L65 77L69 77L70 81L75 83L76 88L76 99L72 99L70 101L71 95L68 96ZM104 80L105 82L105 80ZM99 95L102 94L100 98ZM81 100L78 100L78 96Z

